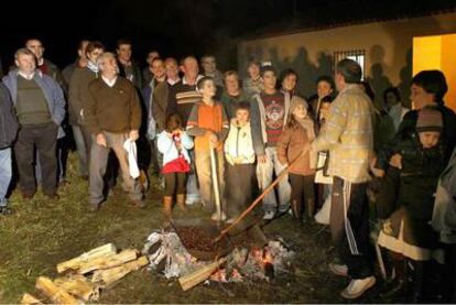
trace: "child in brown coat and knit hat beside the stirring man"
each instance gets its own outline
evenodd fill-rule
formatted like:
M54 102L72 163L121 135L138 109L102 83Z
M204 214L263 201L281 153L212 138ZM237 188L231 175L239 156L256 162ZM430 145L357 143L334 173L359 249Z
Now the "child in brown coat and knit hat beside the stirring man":
M291 101L292 113L285 130L278 143L279 161L286 165L295 160L302 151L315 139L314 122L307 112L307 102L294 96ZM291 203L294 217L303 221L303 206L306 216L312 219L315 211L315 161L310 153L304 154L290 167L290 184L292 188Z

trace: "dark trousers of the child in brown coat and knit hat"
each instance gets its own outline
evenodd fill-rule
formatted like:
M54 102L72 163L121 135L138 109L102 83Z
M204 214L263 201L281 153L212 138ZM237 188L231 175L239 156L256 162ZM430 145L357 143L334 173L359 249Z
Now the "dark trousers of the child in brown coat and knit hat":
M301 218L304 204L306 204L307 208L315 206L315 175L304 176L290 173L289 179L292 188L291 203L293 207L296 205L296 211L293 213L297 218Z

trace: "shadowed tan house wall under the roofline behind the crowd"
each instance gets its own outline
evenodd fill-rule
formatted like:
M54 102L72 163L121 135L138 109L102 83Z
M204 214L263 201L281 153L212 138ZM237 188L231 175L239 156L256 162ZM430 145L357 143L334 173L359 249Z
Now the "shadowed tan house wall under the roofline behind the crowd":
M409 97L413 36L447 33L456 33L456 13L301 32L242 41L238 63L243 76L251 56L272 62L279 70L293 67L300 73L300 92L308 96L315 92L319 75L334 74L334 52L365 50L365 75L379 105L389 85L399 86L404 99Z

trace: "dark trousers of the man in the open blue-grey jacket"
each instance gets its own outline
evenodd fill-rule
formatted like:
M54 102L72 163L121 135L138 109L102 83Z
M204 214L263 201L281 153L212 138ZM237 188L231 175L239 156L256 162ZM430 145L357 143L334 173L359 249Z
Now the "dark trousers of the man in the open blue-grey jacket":
M58 127L54 122L21 126L14 144L14 153L18 161L20 188L23 194L32 195L36 192L35 148L40 154L43 193L53 195L57 190L57 131Z

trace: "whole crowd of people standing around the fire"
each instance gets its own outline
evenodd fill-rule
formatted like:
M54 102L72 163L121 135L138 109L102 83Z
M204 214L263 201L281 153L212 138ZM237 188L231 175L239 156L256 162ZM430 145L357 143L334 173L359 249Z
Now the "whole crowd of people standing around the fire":
M384 105L376 109L379 92L348 58L305 98L296 94L305 75L278 74L256 59L241 79L234 69L220 73L214 55L177 62L151 51L141 70L128 40L116 53L82 41L62 73L43 55L42 42L28 40L0 84L2 216L11 214L12 164L25 200L39 185L58 200L73 138L93 213L113 195L117 173L131 204L145 207L140 170L151 166L164 184L165 222L174 205L202 204L213 220L230 224L279 177L260 217L290 213L296 224L329 224L339 258L329 270L350 277L343 297L358 298L377 282L374 217L388 258L381 293L455 302L456 115L444 105L442 72L413 77L413 110L398 88L380 92Z

